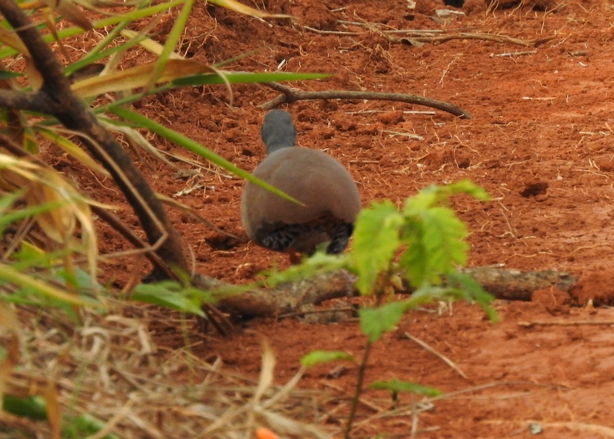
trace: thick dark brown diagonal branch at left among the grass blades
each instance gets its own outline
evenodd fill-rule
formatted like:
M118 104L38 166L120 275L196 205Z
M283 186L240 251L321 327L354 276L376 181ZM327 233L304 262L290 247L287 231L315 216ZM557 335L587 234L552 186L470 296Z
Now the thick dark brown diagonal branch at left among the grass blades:
M54 115L66 128L81 133L79 137L88 151L109 171L131 204L149 243L160 243L157 250L160 258L187 272L179 234L171 226L160 201L128 153L72 93L60 62L17 4L12 0L0 0L0 12L16 29L43 77L41 90L36 93L2 93L2 98L6 100L20 96L32 106Z

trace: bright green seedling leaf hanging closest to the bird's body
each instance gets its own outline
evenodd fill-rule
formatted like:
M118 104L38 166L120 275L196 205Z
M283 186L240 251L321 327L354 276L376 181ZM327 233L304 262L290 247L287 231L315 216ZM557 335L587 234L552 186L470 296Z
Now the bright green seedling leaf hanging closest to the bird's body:
M373 292L379 273L387 270L400 243L403 217L392 201L372 203L356 220L352 258L358 275L356 286L362 295Z

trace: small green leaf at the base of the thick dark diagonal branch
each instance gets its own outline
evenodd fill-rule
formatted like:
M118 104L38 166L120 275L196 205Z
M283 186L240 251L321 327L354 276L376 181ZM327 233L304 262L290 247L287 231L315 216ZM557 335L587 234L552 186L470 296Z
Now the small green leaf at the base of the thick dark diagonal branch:
M176 282L139 284L134 288L132 298L133 300L204 317L201 300L197 297L190 297L186 291L178 290L178 287L179 284Z

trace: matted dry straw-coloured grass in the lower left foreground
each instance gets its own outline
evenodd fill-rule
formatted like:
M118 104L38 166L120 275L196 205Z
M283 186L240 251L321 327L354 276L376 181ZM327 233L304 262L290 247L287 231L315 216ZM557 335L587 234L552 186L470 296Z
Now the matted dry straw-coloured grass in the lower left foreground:
M220 360L196 358L188 347L157 349L147 321L125 317L122 309L125 304L116 304L104 316L84 310L82 324L74 325L56 309L15 313L4 306L4 316L18 319L0 320L0 342L10 352L0 365L0 391L42 395L50 419L0 413L0 438L60 437L60 425L70 427L79 417L97 422L98 431L61 437L238 439L263 426L284 437L331 437L313 425L321 414L316 394L294 389L301 373L273 386L266 343L255 382L227 373Z

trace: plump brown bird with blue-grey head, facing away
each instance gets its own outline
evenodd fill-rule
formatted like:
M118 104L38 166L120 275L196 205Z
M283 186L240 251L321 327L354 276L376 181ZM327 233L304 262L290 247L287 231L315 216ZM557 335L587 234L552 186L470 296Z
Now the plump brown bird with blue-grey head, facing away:
M292 262L321 247L328 254L343 252L360 211L359 190L348 170L321 150L297 147L297 130L287 111L269 111L260 136L266 157L254 177L302 205L247 181L241 195L247 236L259 246L289 254Z

